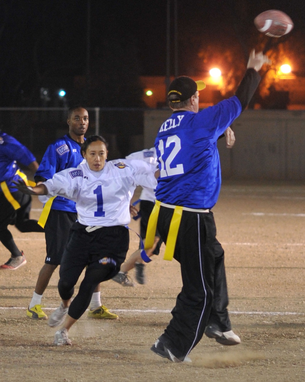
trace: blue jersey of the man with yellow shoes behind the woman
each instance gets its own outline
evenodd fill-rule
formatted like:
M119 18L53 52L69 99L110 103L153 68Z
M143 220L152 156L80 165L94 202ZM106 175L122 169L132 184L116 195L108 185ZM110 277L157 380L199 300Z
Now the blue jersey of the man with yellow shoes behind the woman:
M77 167L83 160L80 146L69 135L57 139L48 146L35 176L51 179L59 171ZM51 209L76 213L75 202L62 196L56 196Z

